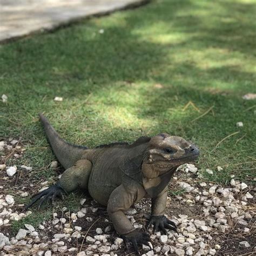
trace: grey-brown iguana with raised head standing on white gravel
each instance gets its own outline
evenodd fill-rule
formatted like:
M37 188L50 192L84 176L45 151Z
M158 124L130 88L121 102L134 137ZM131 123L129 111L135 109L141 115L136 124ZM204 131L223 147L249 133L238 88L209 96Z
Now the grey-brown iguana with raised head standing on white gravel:
M181 137L160 133L140 137L132 144L112 143L88 149L65 142L48 120L42 114L39 116L65 171L57 184L37 193L26 208L39 199L41 207L45 200L55 200L77 188L89 191L93 199L107 206L116 231L125 242L132 242L138 252L138 244L147 244L149 234L134 228L124 211L147 197L151 198L149 225L154 226L154 231L159 229L166 233L166 228L176 231L176 225L164 215L167 185L179 165L199 156L195 145Z

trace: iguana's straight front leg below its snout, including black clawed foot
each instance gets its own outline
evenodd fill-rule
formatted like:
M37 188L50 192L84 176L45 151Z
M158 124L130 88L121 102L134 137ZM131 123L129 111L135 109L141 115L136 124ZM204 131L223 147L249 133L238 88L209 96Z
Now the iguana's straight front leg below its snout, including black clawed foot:
M147 227L152 224L154 226L153 232L160 229L160 231L163 231L164 234L166 234L166 228L177 232L176 224L167 219L164 215L164 210L167 204L167 195L168 187L166 186L157 197L151 199L151 218Z

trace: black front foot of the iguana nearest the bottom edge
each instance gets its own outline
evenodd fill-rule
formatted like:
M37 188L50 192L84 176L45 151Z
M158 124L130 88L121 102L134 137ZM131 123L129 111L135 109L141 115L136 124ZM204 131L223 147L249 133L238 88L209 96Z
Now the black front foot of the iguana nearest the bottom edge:
M124 239L126 247L127 247L127 243L131 242L134 247L134 250L139 255L140 255L139 248L138 248L139 244L144 244L144 245L150 246L150 244L149 244L150 235L147 233L142 233L137 230L134 230L134 231L130 232L129 234L121 235L121 237Z

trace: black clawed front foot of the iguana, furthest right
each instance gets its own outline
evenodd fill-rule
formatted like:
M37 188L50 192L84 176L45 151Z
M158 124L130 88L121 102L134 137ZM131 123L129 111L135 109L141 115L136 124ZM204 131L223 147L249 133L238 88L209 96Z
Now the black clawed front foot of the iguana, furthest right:
M149 224L147 224L147 228L150 227L150 225L153 225L153 232L156 232L156 230L163 231L164 234L167 234L167 231L165 228L169 230L173 230L178 233L176 224L167 219L165 215L160 216L151 216Z

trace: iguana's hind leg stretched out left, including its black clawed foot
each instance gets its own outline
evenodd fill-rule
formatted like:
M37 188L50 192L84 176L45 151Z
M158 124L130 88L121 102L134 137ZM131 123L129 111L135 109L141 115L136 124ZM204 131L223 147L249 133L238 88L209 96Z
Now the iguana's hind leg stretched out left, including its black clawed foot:
M64 192L71 192L77 188L87 189L88 179L90 176L92 164L89 160L79 160L77 163L67 169L62 177L58 180L55 185L50 186L46 190L39 192L33 196L33 200L25 208L28 209L30 206L36 203L40 199L38 208L44 203L44 201L50 198L62 197Z

